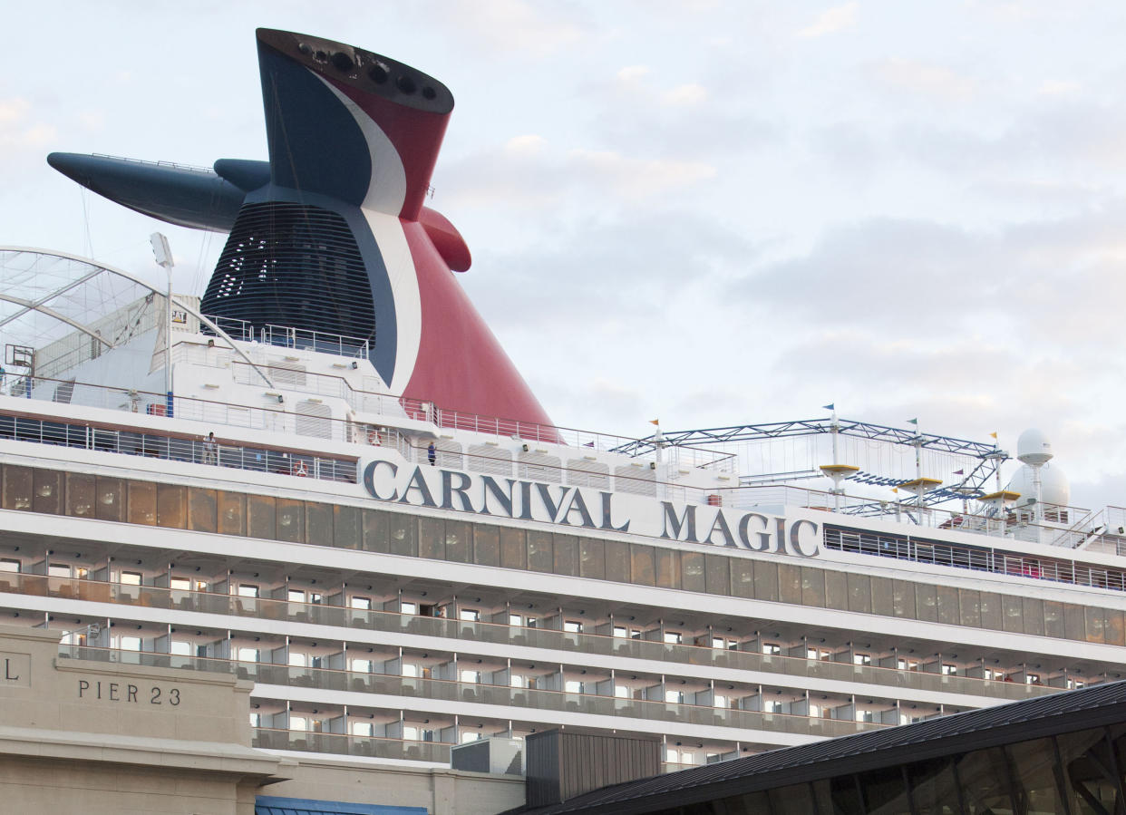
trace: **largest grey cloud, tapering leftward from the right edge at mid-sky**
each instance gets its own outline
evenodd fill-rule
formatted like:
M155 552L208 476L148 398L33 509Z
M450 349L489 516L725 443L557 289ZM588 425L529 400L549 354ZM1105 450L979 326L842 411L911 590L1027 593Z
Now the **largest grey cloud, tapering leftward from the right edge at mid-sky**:
M1094 353L1126 298L1124 216L1117 199L1097 214L991 231L870 218L830 231L804 257L762 266L732 294L828 326L920 339L1000 329Z

